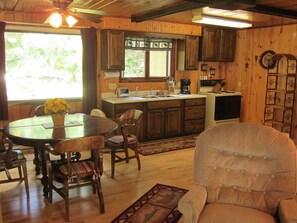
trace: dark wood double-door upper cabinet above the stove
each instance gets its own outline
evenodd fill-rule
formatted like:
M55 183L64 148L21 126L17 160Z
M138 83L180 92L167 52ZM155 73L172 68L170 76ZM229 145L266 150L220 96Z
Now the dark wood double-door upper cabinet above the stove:
M232 62L234 60L236 31L233 29L204 27L200 38L201 61Z

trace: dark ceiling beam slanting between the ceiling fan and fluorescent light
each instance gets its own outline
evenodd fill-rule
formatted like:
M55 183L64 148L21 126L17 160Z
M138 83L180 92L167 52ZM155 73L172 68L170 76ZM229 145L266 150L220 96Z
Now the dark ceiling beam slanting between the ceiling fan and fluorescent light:
M207 6L207 3L201 3L201 2L193 2L193 1L183 1L180 3L177 3L175 5L171 5L168 7L164 7L161 9L153 10L150 12L146 12L143 14L139 15L132 15L131 21L132 22L143 22L149 19L155 19L158 17L166 16L166 15L171 15L174 13L179 13L179 12L184 12L184 11L189 11L201 7Z

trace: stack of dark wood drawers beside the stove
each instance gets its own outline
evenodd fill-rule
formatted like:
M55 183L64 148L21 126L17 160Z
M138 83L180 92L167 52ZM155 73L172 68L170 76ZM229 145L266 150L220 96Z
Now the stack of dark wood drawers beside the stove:
M184 100L184 134L196 134L205 127L205 98Z

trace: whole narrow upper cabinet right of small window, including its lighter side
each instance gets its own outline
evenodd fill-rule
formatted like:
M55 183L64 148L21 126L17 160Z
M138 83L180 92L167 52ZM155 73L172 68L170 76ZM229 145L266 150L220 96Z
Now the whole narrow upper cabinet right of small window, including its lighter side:
M178 70L197 70L198 51L198 36L185 36L185 39L177 40Z

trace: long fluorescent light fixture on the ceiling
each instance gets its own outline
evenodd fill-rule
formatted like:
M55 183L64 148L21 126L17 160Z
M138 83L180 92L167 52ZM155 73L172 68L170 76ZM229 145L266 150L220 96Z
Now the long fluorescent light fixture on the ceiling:
M215 26L227 26L233 28L249 28L252 27L251 23L234 20L234 19L227 19L221 17L214 17L209 15L198 15L194 16L192 22L195 23L202 23L208 25L215 25Z

